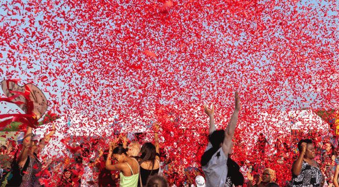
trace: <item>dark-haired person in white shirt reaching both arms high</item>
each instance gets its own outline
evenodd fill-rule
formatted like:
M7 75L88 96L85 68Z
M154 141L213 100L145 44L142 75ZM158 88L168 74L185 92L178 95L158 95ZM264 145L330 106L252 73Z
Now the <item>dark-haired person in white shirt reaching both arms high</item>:
M228 155L232 153L232 139L241 108L237 91L234 96L234 112L225 130L215 130L214 106L212 109L204 106L205 113L209 116L209 142L200 164L206 176L206 187L224 187L227 182L227 160Z

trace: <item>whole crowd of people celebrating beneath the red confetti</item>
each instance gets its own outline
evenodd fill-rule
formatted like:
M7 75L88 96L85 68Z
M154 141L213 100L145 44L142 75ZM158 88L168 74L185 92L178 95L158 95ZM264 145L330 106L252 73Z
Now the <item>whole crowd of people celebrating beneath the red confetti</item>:
M267 159L268 141L261 133L255 154L247 157L260 162L234 159L233 147L238 143L233 138L240 108L236 92L234 112L226 129L216 130L214 107L204 106L209 117L208 144L200 159L201 167L186 168L184 172L177 170L175 158L167 157L160 145L159 123L153 127L154 143L131 142L126 134L108 145L100 138L80 144L65 139L63 158L41 155L56 132L54 125L41 139L27 127L16 140L7 138L0 146L1 187L339 187L338 151L331 142L322 143L319 136L301 140L279 136L274 144L278 159L273 161ZM292 144L298 149L294 150ZM287 162L292 165L286 170L274 167ZM284 172L289 179L279 177Z

